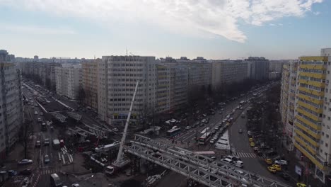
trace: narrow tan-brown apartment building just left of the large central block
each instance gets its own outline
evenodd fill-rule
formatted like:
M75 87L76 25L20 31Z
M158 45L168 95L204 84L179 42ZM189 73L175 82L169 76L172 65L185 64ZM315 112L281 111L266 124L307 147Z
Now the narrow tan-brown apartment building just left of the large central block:
M98 69L101 60L86 60L81 63L84 103L98 109Z

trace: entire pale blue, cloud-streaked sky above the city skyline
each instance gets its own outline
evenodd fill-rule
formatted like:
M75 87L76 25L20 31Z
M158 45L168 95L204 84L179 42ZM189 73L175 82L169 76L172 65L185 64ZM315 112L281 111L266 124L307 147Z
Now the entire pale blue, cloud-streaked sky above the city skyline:
M0 0L16 57L270 60L331 47L330 0Z

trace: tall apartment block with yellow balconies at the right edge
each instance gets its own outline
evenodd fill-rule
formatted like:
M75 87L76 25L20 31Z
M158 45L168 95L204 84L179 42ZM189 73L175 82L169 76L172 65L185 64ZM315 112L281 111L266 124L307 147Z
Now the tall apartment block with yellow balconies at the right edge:
M298 62L285 64L281 83L286 145L292 140L296 157L304 163L302 171L313 171L323 182L331 174L330 54L331 49L323 49L320 56L299 57Z

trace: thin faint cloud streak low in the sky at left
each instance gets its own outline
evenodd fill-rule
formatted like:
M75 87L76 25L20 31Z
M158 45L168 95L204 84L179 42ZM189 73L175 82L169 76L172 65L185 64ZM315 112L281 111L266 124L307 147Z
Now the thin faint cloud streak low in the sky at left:
M2 24L4 30L10 30L16 33L30 33L38 35L71 35L75 34L74 30L69 28L43 28L39 26L14 26Z

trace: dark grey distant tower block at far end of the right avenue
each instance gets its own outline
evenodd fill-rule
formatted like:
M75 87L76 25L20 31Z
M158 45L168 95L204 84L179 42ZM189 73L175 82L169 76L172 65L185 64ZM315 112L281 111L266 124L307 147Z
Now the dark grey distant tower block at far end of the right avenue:
M265 57L248 57L248 76L254 80L266 80L269 77L269 60Z

